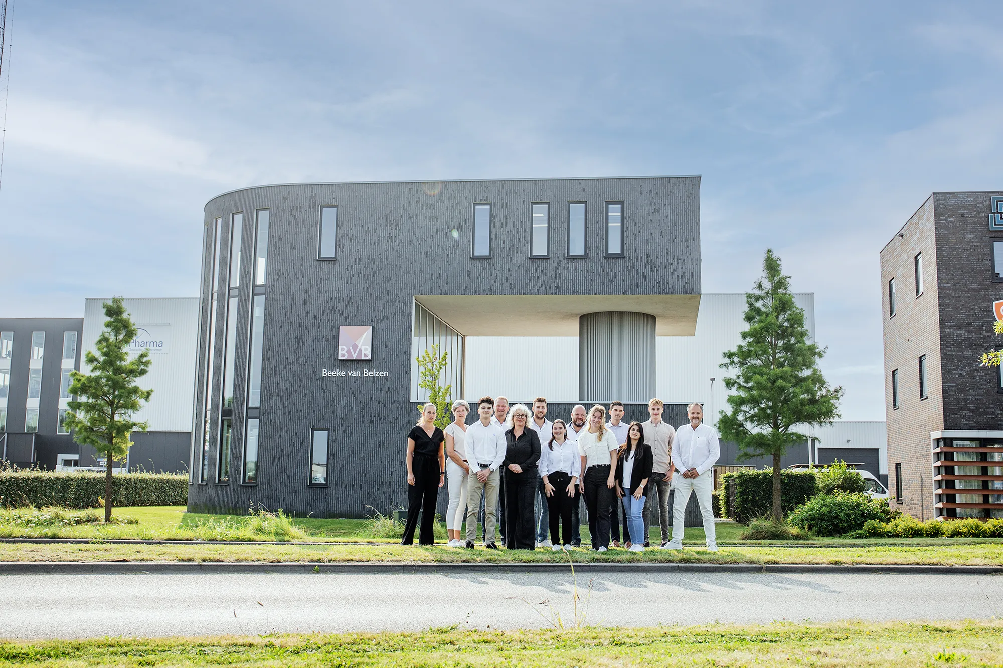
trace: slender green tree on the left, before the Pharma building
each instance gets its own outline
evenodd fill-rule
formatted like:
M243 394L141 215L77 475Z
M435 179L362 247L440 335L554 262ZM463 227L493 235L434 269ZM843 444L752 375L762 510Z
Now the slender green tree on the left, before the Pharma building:
M145 422L131 419L140 402L148 401L153 390L144 390L136 379L149 371L149 351L143 350L129 359L125 351L136 336L135 325L125 312L121 297L104 304L104 331L97 337L97 353L87 351L84 360L89 375L73 371L69 393L76 398L69 402L66 429L73 439L91 445L106 458L104 479L104 522L111 521L111 464L121 458L132 445L129 435L145 431Z

